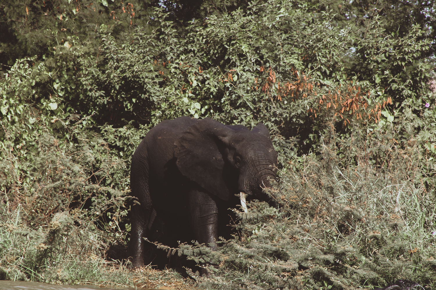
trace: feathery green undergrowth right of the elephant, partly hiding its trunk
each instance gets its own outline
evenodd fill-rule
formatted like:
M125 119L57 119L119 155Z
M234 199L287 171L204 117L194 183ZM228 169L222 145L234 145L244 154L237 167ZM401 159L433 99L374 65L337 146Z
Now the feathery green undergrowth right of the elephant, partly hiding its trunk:
M214 265L210 276L196 277L203 289L373 289L398 279L433 289L435 195L414 171L422 158L416 144L371 144L356 134L337 141L358 153L356 167L339 165L347 157L323 140L318 157L304 156L300 171L282 173L267 190L276 208L255 201L248 213L238 211L238 234L218 251L166 250ZM384 167L368 162L378 150Z

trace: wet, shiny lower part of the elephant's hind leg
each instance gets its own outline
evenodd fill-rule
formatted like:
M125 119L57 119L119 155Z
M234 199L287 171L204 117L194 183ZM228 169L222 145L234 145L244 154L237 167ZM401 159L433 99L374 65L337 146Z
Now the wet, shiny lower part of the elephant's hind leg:
M132 257L132 266L134 268L144 266L144 237L146 237L147 225L149 217L139 204L133 204L132 207L132 229L130 230L130 242L128 247L128 255Z

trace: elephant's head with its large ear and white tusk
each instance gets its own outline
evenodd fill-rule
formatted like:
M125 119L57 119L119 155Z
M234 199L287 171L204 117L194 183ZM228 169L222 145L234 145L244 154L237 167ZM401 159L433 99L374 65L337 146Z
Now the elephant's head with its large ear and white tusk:
M244 210L245 195L267 200L262 187L269 186L269 177L276 177L277 153L265 125L258 124L250 131L242 125L226 126L205 118L189 127L175 145L181 173L210 193L228 200L227 170L238 174L237 190Z

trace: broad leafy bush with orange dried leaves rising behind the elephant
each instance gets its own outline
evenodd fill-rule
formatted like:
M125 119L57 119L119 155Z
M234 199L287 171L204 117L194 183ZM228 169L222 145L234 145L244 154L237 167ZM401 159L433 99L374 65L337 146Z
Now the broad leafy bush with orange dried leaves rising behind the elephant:
M274 1L254 1L246 10L185 26L167 21L162 10L129 37L100 23L98 50L65 36L68 43L45 53L42 62L17 62L4 79L9 93L3 117L21 114L24 102L41 103L58 120L92 115L88 126L94 132L128 128L111 142L119 151L129 147L128 153L136 145L131 137L138 140L161 120L188 115L249 127L263 122L286 138L298 137L301 153L329 131L329 122L344 136L353 122L363 132L382 130L401 142L425 131L420 152L434 154L435 94L427 85L434 64L426 54L432 40L422 28L385 35L385 20L377 18L362 38L352 21L334 26L330 13ZM13 76L19 66L27 66L27 73ZM9 85L14 77L25 96L18 100L7 97L20 95ZM132 130L141 125L140 132Z

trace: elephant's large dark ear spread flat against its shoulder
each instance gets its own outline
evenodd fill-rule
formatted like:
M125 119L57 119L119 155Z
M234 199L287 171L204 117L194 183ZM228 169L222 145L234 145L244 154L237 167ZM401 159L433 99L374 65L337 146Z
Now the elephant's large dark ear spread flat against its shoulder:
M210 118L204 118L183 132L174 143L177 167L190 180L223 200L229 192L223 179L225 143L234 130Z

